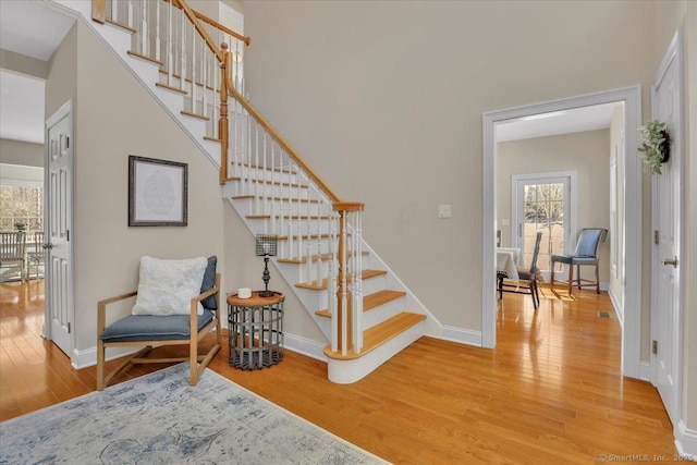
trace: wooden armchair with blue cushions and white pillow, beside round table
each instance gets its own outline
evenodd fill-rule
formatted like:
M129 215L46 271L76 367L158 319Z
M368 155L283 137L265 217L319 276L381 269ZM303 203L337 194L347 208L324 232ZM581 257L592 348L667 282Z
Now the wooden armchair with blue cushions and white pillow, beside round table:
M99 301L97 304L97 389L134 364L189 363L189 384L195 386L221 347L220 273L217 257L186 260L140 259L138 291ZM107 326L107 306L136 297L131 315ZM215 331L216 343L199 355L198 344ZM186 357L146 357L164 345L188 345ZM108 347L143 347L106 374Z

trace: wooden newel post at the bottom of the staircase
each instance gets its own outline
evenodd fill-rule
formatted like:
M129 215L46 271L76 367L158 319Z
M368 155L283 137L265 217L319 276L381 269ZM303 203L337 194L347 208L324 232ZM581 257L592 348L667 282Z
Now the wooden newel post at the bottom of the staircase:
M346 216L351 211L363 211L365 204L335 203L333 210L339 213L339 246L337 248L337 336L338 346L342 355L353 348L354 315L352 305L352 291L348 289L348 224ZM353 234L354 232L352 232ZM355 272L355 270L353 270ZM358 317L359 318L359 317ZM360 330L359 328L357 329Z

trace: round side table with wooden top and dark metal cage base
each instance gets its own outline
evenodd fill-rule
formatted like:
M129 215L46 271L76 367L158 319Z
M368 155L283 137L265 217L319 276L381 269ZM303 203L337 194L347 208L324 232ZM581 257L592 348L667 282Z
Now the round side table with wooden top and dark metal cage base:
M230 329L230 365L243 370L266 368L283 358L283 301L280 292L262 297L254 291L250 297L228 296Z

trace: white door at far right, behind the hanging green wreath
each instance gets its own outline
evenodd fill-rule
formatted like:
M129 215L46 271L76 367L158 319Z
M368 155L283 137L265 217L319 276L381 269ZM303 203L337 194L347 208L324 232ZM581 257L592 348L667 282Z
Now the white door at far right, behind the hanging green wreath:
M682 224L682 66L673 40L652 88L652 117L667 123L671 155L652 175L653 247L651 265L651 339L653 384L665 409L677 425L680 418L680 376L682 371L681 318L681 224Z

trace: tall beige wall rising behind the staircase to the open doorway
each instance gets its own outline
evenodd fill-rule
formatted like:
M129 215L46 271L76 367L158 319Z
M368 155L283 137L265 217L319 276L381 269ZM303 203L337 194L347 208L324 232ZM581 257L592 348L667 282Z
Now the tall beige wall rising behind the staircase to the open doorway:
M636 48L650 14L613 1L248 2L247 89L344 199L366 203L366 240L430 311L479 331L481 114L646 83ZM437 218L442 204L452 219Z

